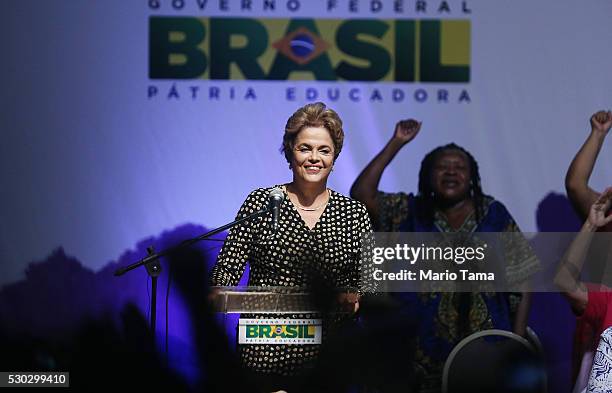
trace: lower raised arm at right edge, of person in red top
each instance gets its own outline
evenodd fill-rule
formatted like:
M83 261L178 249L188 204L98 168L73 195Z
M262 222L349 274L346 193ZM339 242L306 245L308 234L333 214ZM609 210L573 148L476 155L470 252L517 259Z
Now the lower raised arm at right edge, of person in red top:
M568 299L576 315L584 313L589 300L588 291L580 281L580 272L593 239L593 233L612 221L612 215L606 217L606 212L611 205L612 187L608 187L591 206L588 219L563 257L555 276L555 284L563 291L563 295Z

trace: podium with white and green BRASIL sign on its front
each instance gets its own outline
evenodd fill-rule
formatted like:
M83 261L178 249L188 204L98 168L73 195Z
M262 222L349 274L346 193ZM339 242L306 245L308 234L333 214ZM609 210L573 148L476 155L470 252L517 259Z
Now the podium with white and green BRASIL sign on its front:
M321 344L323 321L313 301L316 297L300 287L213 287L213 310L222 314L247 314L238 320L239 344ZM326 313L351 314L359 300L351 288L330 294ZM329 299L328 299L329 300ZM252 314L252 315L249 315ZM291 318L299 314L301 318Z

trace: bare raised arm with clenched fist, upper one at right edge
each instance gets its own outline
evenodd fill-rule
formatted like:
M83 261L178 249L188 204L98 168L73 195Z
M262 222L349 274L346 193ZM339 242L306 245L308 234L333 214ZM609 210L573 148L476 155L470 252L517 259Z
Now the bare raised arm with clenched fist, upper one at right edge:
M585 219L599 193L589 187L589 178L601 146L612 127L612 112L599 111L591 116L591 133L572 160L565 176L565 189L574 209Z

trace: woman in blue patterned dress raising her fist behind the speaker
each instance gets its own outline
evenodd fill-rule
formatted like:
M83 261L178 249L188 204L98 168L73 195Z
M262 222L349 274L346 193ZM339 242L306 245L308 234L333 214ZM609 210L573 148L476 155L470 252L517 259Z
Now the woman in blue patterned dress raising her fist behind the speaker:
M464 148L451 143L429 152L421 162L416 195L378 190L385 168L419 133L421 123L397 123L392 138L366 166L351 188L365 203L380 232L518 232L504 205L483 193L478 163ZM522 237L520 239L524 240ZM518 281L537 270L526 241L505 255L506 271ZM508 273L507 273L508 274ZM485 329L525 335L527 293L427 292L396 294L417 319L415 361L421 373L420 392L440 392L444 363L464 337Z

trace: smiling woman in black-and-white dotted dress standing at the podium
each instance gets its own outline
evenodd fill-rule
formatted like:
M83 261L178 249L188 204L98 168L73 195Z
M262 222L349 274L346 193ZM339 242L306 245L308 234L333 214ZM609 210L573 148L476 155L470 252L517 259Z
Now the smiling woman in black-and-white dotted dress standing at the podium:
M327 187L343 140L342 121L323 103L305 105L289 118L281 151L292 181L254 190L237 215L238 219L264 209L272 189L280 188L284 199L277 221L266 214L230 230L211 274L212 285L237 285L248 261L249 286L313 288L323 283L335 288L360 287L361 260L366 257L363 235L372 232L370 220L362 203ZM309 319L316 315L248 318ZM324 323L323 338L325 334ZM271 391L288 390L294 378L307 375L320 346L265 343L240 344L238 349L242 364L260 380L270 382Z

